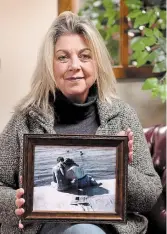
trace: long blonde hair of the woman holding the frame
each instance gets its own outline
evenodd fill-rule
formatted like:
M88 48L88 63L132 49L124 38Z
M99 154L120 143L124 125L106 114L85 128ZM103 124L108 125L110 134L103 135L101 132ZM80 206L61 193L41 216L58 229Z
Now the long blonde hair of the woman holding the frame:
M56 89L53 74L54 46L58 38L67 33L83 35L93 51L97 63L99 99L111 103L113 97L117 98L111 58L100 33L88 19L65 11L53 21L44 38L32 77L31 90L17 105L16 110L26 111L32 106L37 106L47 113L51 108L49 96L52 94L55 99Z

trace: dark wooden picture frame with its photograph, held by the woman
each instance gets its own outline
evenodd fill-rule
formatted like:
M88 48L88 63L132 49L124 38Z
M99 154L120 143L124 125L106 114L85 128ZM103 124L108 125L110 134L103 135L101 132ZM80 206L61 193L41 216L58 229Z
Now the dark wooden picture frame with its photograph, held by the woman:
M23 221L126 222L127 136L24 135Z

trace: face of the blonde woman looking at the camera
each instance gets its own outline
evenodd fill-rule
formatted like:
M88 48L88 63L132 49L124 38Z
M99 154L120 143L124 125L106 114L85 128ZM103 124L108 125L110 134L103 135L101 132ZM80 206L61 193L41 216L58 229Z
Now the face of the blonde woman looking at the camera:
M53 69L57 88L70 100L84 103L96 80L96 62L83 36L67 34L59 37Z

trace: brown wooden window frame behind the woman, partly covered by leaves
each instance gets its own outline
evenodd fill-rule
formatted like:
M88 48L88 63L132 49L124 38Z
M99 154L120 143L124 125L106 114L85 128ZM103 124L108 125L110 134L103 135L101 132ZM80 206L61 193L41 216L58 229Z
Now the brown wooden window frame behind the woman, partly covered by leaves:
M63 11L76 12L78 0L58 0L58 14ZM125 5L125 0L120 0L120 65L113 66L113 71L116 78L148 78L153 76L161 76L152 72L153 67L144 65L142 67L135 67L128 64L128 22L126 16L128 15L128 8Z

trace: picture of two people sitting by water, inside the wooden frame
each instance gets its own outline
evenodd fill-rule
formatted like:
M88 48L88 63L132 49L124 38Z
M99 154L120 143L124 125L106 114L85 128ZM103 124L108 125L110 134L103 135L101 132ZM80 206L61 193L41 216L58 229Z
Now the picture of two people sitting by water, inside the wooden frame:
M36 146L33 211L115 212L116 148Z

